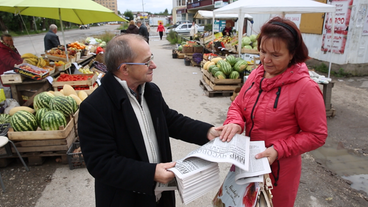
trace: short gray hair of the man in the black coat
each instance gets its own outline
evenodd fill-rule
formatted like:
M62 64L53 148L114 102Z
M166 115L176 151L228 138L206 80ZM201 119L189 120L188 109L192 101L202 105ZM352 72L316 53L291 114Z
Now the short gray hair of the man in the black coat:
M146 41L141 35L123 34L107 43L104 58L108 71L115 73L121 63L132 62L138 56L130 46L132 38Z

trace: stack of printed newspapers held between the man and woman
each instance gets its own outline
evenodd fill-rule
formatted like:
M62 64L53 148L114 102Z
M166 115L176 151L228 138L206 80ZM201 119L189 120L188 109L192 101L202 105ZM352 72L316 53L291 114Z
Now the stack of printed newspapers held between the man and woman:
M250 138L236 134L230 142L213 139L176 161L174 168L168 170L175 174L177 190L182 202L188 203L200 198L207 192L220 186L220 172L217 163L226 162L236 166L237 183L263 181L263 174L270 173L267 158L255 159L255 155L264 151L263 141L250 142ZM256 180L250 180L257 178ZM156 187L158 192L167 188Z

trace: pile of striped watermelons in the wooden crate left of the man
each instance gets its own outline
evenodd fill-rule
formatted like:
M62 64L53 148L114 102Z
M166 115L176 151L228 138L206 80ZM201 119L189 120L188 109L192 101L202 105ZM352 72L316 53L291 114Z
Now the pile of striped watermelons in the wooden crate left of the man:
M37 94L33 99L35 114L18 110L10 117L14 131L59 130L67 125L67 118L78 110L77 102L70 96L54 96L50 92ZM32 109L33 110L33 109Z

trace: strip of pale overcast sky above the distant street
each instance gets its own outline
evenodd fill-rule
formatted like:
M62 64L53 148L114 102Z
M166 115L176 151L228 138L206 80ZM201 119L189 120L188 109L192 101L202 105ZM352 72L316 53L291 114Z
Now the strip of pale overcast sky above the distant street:
M143 0L144 11L151 13L164 12L165 9L171 13L172 0ZM126 10L143 11L142 0L118 0L118 10L124 13Z

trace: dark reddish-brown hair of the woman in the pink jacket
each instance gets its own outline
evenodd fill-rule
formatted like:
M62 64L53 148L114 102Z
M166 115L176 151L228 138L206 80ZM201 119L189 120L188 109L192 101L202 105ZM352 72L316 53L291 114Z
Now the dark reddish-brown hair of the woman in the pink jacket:
M262 45L262 38L263 40L276 39L287 45L290 54L293 54L289 67L309 59L308 48L304 44L302 34L295 23L288 19L274 17L261 27L261 33L257 39L258 51L260 51Z

